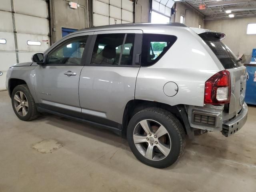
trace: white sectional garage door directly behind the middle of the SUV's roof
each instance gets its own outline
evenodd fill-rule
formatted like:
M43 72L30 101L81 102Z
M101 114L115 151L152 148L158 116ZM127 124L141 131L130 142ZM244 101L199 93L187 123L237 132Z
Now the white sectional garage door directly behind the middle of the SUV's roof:
M130 0L93 0L93 26L132 23L133 2Z

